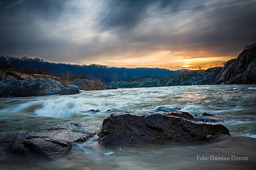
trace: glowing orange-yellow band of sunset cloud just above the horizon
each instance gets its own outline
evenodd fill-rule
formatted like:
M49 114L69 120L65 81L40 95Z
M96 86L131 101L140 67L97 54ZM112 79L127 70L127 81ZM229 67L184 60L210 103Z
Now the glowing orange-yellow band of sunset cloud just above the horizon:
M223 61L228 61L236 56L216 56L206 51L168 51L160 50L142 56L104 56L97 60L86 61L115 67L159 67L170 70L190 69L197 70L210 66L222 66Z

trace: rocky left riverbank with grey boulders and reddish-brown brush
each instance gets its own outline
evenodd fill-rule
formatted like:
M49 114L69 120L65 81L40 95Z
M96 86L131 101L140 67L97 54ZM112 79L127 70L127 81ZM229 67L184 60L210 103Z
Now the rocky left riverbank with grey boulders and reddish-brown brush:
M59 79L48 75L28 75L13 68L0 70L0 97L67 95L79 93L79 90L116 89L88 79L75 79L70 81L70 85L63 86Z

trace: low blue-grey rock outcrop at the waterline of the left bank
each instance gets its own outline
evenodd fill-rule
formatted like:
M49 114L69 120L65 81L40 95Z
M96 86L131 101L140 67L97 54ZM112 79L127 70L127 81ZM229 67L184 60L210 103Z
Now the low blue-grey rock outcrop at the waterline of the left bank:
M52 79L29 78L0 82L0 97L28 97L54 94L75 94L79 89L75 85L63 86Z

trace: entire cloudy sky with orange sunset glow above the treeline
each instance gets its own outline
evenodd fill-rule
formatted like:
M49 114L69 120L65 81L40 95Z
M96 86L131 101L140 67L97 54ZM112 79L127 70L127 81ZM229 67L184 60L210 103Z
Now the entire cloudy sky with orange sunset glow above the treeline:
M256 0L0 0L0 55L71 64L222 66L256 42Z

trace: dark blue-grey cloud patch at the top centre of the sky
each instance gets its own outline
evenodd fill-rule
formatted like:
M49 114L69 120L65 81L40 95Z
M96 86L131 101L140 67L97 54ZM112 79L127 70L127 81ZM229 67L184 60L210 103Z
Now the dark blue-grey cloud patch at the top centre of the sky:
M131 29L148 17L147 10L157 5L165 13L177 12L185 7L188 0L109 0L100 16L102 30Z

